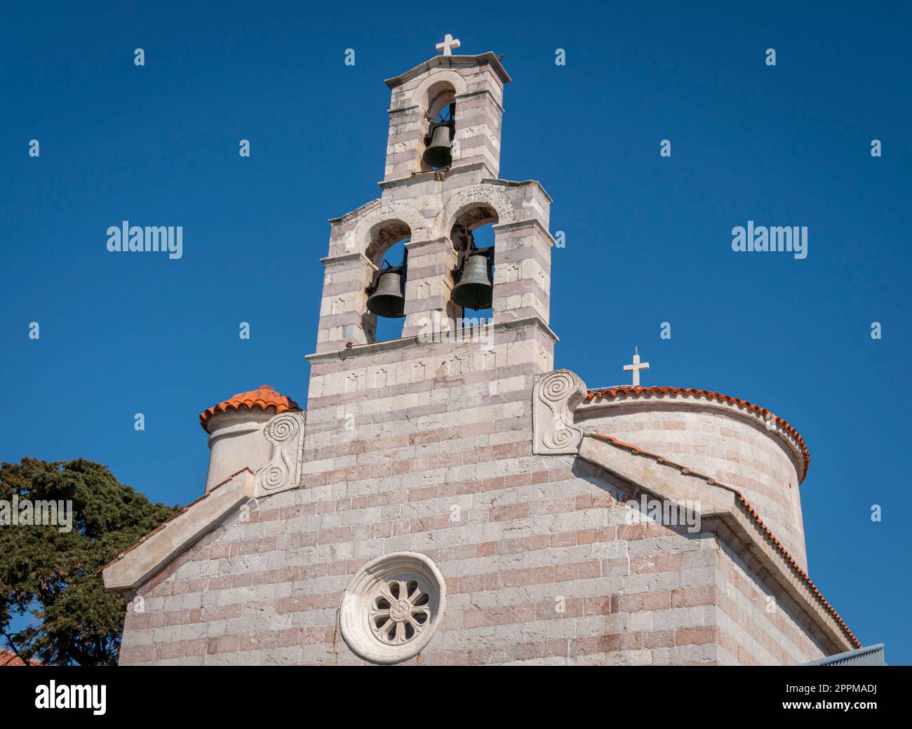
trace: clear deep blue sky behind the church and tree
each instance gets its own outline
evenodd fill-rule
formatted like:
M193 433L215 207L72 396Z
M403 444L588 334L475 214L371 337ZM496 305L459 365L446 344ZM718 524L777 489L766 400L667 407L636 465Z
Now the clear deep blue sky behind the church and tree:
M378 196L383 79L449 32L504 54L501 176L554 198L555 366L624 382L637 345L644 384L791 422L812 578L912 662L910 11L681 5L6 4L0 458L84 456L187 503L200 411L264 383L306 401L326 220ZM182 225L183 257L109 253L125 219ZM748 220L806 225L807 258L733 252Z

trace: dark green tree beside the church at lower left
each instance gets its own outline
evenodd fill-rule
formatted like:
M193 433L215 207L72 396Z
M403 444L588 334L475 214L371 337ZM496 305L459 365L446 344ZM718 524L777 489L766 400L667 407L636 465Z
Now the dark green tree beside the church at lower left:
M72 502L72 529L0 526L0 634L26 660L116 664L127 601L104 588L98 570L180 507L151 504L107 466L82 458L3 463L7 517L14 495L20 503ZM27 614L36 620L11 630L11 620Z

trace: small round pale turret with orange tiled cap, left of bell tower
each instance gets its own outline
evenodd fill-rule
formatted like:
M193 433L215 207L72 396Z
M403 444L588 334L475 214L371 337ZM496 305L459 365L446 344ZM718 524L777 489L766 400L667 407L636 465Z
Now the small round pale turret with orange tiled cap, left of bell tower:
M209 433L209 474L206 493L244 468L256 473L272 458L266 440L266 422L280 412L300 412L298 404L269 385L242 392L200 413L200 425Z

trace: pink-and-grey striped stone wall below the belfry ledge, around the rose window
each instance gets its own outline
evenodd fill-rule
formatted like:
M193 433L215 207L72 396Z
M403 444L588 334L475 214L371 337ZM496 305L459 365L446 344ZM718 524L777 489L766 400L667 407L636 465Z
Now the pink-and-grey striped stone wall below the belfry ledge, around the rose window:
M623 484L575 455L534 455L543 330L502 336L491 370L443 367L483 362L472 341L316 359L303 485L251 502L144 586L121 663L360 663L337 629L343 593L368 560L399 551L430 557L447 589L440 630L409 663L822 652L787 600L763 613L770 588L720 547L718 526L633 523ZM399 381L415 371L426 377Z

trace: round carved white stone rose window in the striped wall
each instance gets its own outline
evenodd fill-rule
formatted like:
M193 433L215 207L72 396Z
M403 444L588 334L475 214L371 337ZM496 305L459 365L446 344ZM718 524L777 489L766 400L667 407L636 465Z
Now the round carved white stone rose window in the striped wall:
M368 562L352 578L342 596L339 627L360 658L407 661L428 644L445 605L436 565L424 555L399 552Z

